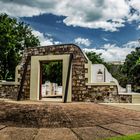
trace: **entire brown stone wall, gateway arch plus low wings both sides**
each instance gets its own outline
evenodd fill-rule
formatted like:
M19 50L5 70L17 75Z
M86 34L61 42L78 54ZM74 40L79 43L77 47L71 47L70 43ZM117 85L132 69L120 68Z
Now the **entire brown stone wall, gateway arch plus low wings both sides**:
M91 101L91 102L131 102L130 96L120 96L117 93L117 87L113 86L93 86L86 85L88 79L85 74L88 72L85 68L85 63L88 62L81 49L73 44L67 45L54 45L46 47L28 48L25 50L22 61L20 63L20 69L18 71L20 83L24 70L24 64L27 56L39 56L39 55L61 55L61 54L73 54L72 60L72 101ZM31 61L27 66L27 73L25 76L25 82L22 90L22 100L29 99L30 96L30 70ZM19 85L8 86L0 84L0 98L13 98L16 99ZM10 94L11 93L11 94Z

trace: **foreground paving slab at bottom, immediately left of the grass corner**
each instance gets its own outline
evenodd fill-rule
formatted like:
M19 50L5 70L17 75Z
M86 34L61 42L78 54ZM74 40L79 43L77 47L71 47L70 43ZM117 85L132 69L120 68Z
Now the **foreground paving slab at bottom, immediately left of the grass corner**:
M96 139L104 139L106 137L120 136L117 133L97 126L72 128L72 129L83 140L96 140Z

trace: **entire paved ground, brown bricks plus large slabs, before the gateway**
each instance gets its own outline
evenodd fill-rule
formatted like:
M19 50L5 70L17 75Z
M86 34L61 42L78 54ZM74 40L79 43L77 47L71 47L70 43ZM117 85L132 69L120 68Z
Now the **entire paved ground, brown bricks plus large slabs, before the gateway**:
M0 140L96 140L140 133L140 112L94 103L0 101Z

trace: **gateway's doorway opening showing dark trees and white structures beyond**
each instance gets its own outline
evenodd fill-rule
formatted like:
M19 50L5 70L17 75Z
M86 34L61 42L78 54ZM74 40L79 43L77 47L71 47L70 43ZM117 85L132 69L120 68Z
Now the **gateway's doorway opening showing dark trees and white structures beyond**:
M40 100L62 101L62 73L62 60L40 62Z

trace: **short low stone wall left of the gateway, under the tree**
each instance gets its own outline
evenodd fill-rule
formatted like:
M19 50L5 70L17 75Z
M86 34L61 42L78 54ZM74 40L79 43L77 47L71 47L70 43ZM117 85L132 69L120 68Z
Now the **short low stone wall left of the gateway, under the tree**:
M18 89L19 89L18 83L0 82L0 98L16 100Z

